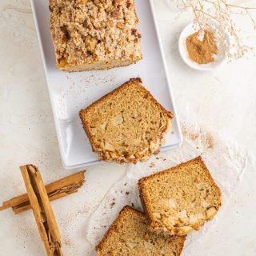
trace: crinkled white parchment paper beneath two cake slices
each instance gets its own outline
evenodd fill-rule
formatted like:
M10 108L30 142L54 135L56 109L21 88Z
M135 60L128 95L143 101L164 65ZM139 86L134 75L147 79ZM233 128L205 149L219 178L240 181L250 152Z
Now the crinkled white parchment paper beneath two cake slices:
M213 221L206 222L199 231L193 231L187 236L182 256L196 255L206 232L214 222L218 222L218 218L221 218L226 202L238 185L248 162L248 154L235 142L199 126L198 122L182 122L182 133L184 135L182 147L160 153L147 162L130 165L125 177L110 188L91 215L87 226L87 239L92 245L95 246L102 239L123 206L130 205L142 210L138 194L138 179L201 155L215 182L222 190L223 206Z

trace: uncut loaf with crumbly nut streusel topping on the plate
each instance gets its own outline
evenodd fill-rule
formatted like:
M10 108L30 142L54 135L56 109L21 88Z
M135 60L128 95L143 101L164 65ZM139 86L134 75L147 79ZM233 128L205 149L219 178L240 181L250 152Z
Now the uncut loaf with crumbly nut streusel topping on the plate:
M50 0L57 67L106 70L142 58L134 0Z

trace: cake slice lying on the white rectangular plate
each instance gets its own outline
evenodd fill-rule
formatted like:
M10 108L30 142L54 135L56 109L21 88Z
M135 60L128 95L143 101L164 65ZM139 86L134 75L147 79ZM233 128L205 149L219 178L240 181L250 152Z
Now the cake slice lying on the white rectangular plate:
M100 160L133 162L158 154L173 117L132 78L80 111L92 150Z

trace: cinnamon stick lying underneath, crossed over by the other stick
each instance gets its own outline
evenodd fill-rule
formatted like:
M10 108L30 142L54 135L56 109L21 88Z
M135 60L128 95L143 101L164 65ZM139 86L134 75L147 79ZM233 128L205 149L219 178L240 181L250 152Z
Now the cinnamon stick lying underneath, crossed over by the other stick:
M46 185L46 191L50 201L56 200L58 198L63 198L68 194L72 194L78 191L78 189L85 182L85 170L82 170L76 174L62 178L56 182L52 182ZM8 208L14 210L14 214L22 213L25 210L30 210L30 200L27 194L19 195L18 197L11 198L10 200L3 202L0 206L1 210L6 210Z

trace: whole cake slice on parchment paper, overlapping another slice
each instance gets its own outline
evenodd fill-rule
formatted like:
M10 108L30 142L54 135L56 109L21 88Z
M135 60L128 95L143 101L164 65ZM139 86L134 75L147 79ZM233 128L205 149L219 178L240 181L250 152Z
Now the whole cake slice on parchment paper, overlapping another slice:
M199 230L222 205L221 190L201 157L142 178L138 186L150 226L159 233Z

